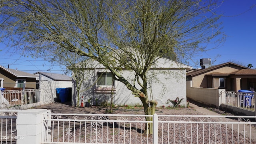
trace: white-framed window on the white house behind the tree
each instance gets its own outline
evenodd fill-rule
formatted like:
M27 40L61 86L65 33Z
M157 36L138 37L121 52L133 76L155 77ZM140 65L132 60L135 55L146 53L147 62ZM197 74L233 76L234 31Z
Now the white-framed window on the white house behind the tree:
M98 86L112 86L112 73L110 72L98 72ZM113 84L114 85L114 84Z

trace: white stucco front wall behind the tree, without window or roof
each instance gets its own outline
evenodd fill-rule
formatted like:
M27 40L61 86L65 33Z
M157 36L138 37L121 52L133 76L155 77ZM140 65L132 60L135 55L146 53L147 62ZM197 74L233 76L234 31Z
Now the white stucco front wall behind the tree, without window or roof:
M92 100L98 98L98 102L105 99L110 101L111 94L94 94L94 84L97 80L97 72L108 72L108 70L97 69L90 70L86 73L86 80L83 83L83 90L80 90L80 97L84 96L84 102L89 98ZM122 71L122 76L132 82L134 75L130 71ZM172 106L166 104L168 99L175 100L178 96L184 98L181 106L186 106L186 70L174 68L172 70L150 70L148 72L148 94L158 101L158 106ZM76 105L76 86L72 84L72 105ZM126 88L121 82L115 81L116 94L114 94L114 103L117 105L135 105L142 104L139 98L135 98L132 92ZM150 90L152 89L152 90ZM152 94L151 94L152 91ZM152 97L151 97L152 98ZM80 101L81 102L81 101ZM92 104L92 102L91 102Z

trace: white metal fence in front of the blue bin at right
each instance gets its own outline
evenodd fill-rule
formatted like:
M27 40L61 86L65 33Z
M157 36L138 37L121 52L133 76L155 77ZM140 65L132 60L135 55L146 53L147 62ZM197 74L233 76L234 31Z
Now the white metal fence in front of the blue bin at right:
M255 110L253 93L222 91L222 100L224 100L222 101L222 104L236 106L251 111Z

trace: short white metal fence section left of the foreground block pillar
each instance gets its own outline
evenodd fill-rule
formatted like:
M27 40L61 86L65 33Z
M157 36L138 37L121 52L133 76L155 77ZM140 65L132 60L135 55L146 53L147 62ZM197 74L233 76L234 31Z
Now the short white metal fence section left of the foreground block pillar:
M0 144L16 144L17 112L0 112Z

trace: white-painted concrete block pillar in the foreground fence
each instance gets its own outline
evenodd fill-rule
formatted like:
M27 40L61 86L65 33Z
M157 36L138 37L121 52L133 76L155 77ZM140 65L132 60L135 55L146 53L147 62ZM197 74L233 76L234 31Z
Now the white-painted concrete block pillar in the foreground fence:
M28 109L18 112L17 116L17 144L41 144L42 113L46 109Z

